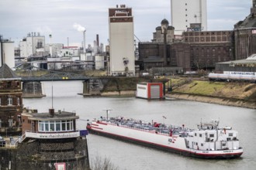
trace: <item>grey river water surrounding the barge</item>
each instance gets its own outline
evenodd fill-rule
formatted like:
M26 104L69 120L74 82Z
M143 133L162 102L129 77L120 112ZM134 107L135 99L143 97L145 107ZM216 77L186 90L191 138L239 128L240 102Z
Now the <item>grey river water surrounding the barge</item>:
M241 158L204 160L89 134L87 138L91 164L99 157L109 159L118 169L127 170L256 167L256 110L188 100L149 101L135 97L82 97L78 95L82 92L81 81L43 82L43 90L47 97L23 99L24 106L37 109L39 112L47 112L53 104L55 110L75 111L83 120L106 117L105 110L111 109L109 117L132 117L179 126L185 124L189 128L196 128L201 119L211 121L220 118L220 127L230 126L239 132L240 145L244 148ZM163 119L163 116L167 118ZM80 120L78 128L85 129L86 124L86 121Z

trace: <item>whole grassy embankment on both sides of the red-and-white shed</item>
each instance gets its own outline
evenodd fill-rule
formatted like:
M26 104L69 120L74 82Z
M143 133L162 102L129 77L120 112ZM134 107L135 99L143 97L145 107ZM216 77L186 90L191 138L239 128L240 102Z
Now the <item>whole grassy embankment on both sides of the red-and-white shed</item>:
M100 96L135 97L136 85L143 81L163 82L163 80L145 78L114 77L106 81ZM168 79L164 82L168 82ZM176 78L169 80L165 87L168 87L168 84L171 84L173 90L171 93L166 93L166 97L256 109L255 83L209 82Z

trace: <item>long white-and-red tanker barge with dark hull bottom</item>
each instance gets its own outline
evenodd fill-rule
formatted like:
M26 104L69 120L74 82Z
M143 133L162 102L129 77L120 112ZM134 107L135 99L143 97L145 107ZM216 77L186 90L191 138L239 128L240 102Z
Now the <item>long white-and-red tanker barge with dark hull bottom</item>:
M92 121L87 129L92 134L130 141L196 158L238 158L243 154L238 132L219 128L219 121L198 124L189 129L165 124L144 123L123 117Z

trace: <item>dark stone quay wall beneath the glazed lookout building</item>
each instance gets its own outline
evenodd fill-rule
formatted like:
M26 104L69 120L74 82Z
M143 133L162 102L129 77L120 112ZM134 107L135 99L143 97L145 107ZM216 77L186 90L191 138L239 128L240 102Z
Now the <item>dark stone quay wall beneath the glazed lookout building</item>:
M0 170L53 170L63 162L66 170L90 169L86 138L22 142L16 148L0 148L0 155Z

